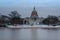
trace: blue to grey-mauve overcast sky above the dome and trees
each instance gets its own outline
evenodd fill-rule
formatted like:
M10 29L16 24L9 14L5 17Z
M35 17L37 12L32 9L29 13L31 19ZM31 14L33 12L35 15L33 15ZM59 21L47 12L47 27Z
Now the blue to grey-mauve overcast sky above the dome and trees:
M29 17L34 6L39 17L60 16L60 0L0 0L0 13L8 15L16 10L22 17Z

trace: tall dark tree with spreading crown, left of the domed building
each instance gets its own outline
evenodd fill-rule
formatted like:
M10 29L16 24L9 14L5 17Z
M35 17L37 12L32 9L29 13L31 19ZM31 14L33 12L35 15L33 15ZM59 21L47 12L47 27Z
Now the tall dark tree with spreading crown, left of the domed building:
M12 25L23 24L23 19L17 11L12 11L11 14L9 14L9 16L11 17L10 23Z

